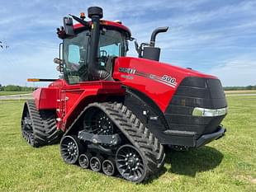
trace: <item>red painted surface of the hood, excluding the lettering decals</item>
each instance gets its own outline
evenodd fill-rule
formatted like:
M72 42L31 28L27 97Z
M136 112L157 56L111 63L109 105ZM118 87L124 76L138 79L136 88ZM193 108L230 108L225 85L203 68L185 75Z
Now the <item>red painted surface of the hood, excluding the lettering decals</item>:
M175 78L178 85L185 77L189 76L216 78L191 69L179 68L168 63L159 63L149 59L130 57L116 59L113 78L118 79L127 87L132 87L138 91L144 92L146 96L149 96L149 98L159 105L159 108L163 112L166 110L174 92L177 90L178 85L173 88L165 85L164 83L156 82L149 77L140 77L135 74L121 73L119 72L119 68L135 68L136 71L154 74L159 77L168 75L169 77ZM132 79L122 77L124 75L132 77Z

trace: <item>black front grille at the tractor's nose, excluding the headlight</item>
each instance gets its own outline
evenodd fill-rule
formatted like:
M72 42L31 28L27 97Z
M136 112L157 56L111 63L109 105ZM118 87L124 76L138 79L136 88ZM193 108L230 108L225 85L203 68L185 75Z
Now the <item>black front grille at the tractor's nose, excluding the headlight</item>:
M194 132L198 135L213 133L225 115L217 117L192 116L195 107L220 109L226 107L225 93L219 79L186 77L178 86L165 111L169 128Z

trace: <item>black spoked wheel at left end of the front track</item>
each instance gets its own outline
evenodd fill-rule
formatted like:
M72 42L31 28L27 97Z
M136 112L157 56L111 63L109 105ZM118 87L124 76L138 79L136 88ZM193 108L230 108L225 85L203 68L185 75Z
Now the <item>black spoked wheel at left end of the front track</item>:
M74 135L64 136L60 141L60 154L64 162L74 164L78 161L82 146L78 138Z

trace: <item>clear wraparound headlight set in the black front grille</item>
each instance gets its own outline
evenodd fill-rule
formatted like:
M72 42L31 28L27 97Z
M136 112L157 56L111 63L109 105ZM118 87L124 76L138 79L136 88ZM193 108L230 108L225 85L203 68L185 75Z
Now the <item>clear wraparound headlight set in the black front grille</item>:
M195 107L192 112L192 115L197 117L216 117L220 115L225 115L227 114L227 112L228 112L227 107L216 109L216 110Z

